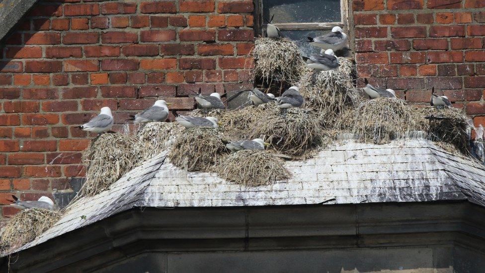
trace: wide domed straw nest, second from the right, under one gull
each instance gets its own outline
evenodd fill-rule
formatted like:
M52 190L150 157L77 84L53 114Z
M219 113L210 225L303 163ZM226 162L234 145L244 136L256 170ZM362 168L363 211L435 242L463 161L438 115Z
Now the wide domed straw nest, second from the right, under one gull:
M356 109L346 111L337 125L360 140L375 144L388 143L408 131L420 129L413 119L413 109L404 100L385 97L366 100Z

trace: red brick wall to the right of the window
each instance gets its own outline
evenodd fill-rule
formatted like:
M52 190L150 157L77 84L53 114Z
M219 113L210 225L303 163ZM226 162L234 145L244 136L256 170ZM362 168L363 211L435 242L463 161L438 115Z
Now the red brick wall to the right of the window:
M485 125L485 0L353 0L361 78L427 103L431 88ZM361 83L362 84L362 83Z

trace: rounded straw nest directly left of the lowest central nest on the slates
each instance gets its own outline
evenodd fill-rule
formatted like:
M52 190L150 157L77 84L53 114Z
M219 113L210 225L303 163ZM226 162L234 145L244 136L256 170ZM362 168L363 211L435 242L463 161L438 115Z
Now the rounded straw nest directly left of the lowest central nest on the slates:
M188 171L210 171L217 158L227 152L223 135L215 128L194 127L185 130L173 144L170 162Z

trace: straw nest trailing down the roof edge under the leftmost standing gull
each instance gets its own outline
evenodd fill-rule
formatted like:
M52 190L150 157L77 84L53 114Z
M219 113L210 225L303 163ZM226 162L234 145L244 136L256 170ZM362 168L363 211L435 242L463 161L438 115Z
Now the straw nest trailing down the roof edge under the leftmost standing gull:
M83 155L87 172L79 195L95 195L134 168L140 160L135 145L135 139L128 135L99 136Z

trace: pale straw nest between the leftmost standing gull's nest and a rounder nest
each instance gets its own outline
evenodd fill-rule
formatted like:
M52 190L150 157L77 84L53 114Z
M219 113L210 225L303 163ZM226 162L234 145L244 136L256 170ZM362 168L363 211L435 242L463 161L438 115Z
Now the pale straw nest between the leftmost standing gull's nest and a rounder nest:
M143 161L151 159L168 149L170 142L182 131L183 126L177 122L149 122L136 134L135 151Z

